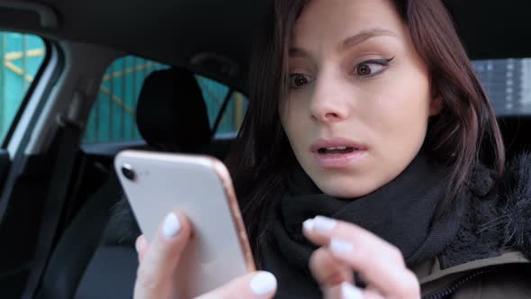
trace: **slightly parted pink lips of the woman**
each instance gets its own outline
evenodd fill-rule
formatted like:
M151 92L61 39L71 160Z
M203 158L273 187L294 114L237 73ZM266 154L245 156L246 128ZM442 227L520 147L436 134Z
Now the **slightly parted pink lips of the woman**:
M318 150L321 148L334 148L346 146L357 150L342 155L321 155ZM355 140L345 138L331 138L327 140L317 140L311 145L311 152L321 168L346 168L362 159L366 152L367 146Z

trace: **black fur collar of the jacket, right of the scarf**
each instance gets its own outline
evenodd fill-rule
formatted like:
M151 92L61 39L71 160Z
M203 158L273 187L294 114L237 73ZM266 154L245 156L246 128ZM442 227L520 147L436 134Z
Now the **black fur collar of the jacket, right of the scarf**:
M531 155L513 159L500 180L490 169L476 168L469 191L461 229L438 257L441 267L508 250L531 259Z

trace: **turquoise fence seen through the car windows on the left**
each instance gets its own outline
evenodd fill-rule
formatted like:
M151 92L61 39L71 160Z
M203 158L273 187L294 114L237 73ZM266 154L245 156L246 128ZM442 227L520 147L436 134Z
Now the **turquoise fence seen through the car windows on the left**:
M45 45L40 37L0 32L0 143L13 124L44 57ZM164 68L168 66L134 56L116 59L103 76L98 98L86 125L84 142L140 140L134 118L139 92L151 72ZM202 87L213 124L229 87L205 77L196 76L196 79ZM245 97L232 93L217 133L238 131L246 108Z

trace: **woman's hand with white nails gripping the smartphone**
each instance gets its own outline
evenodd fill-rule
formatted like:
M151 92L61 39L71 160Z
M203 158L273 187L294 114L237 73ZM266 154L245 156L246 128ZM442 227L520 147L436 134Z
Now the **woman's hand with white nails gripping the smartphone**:
M174 272L191 234L192 225L188 219L181 213L170 213L151 244L143 236L137 239L139 270L135 299L175 298ZM197 299L266 299L272 298L275 290L275 276L258 272L238 277Z

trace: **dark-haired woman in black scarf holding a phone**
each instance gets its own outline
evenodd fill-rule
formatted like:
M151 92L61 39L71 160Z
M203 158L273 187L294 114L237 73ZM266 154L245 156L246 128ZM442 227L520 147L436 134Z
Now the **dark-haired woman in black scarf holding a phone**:
M272 19L228 161L269 272L202 298L531 298L531 161L504 171L441 2L277 0ZM171 297L190 224L161 231L137 241L138 298Z

